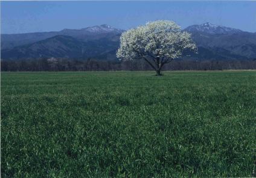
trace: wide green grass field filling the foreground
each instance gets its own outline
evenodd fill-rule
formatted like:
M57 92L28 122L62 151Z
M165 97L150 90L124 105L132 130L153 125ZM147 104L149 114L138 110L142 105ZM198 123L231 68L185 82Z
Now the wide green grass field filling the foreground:
M1 73L2 177L250 177L256 71Z

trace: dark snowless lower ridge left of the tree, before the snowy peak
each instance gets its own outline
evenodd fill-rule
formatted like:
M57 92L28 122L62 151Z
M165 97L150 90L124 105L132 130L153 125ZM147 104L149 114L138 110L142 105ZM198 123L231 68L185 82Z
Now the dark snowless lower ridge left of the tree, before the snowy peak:
M68 35L56 35L35 43L16 46L13 49L4 49L1 51L1 58L22 60L51 57L72 59L96 57L100 60L109 60L109 57L113 58L115 55L113 49L117 45L117 41L110 41L108 38L80 41Z

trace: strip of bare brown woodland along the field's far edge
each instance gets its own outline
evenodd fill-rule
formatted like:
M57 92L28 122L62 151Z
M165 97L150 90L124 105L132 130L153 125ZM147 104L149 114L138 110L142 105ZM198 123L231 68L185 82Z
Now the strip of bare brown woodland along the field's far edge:
M163 70L225 70L256 69L255 60L174 60L166 64ZM1 71L110 71L110 70L152 70L143 60L1 60Z

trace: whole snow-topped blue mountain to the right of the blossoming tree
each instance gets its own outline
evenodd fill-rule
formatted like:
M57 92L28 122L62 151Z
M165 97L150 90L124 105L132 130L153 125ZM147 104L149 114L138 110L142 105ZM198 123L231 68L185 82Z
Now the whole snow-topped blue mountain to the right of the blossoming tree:
M184 30L191 33L199 48L198 54L193 58L256 58L256 33L211 23L191 25Z

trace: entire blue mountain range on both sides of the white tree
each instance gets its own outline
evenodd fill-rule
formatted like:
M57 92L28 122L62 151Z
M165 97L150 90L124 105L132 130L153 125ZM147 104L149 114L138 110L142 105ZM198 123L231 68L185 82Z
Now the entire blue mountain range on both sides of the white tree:
M256 32L203 23L184 29L198 46L193 60L249 60L256 58ZM70 58L117 60L123 29L109 25L54 32L1 34L1 59Z

